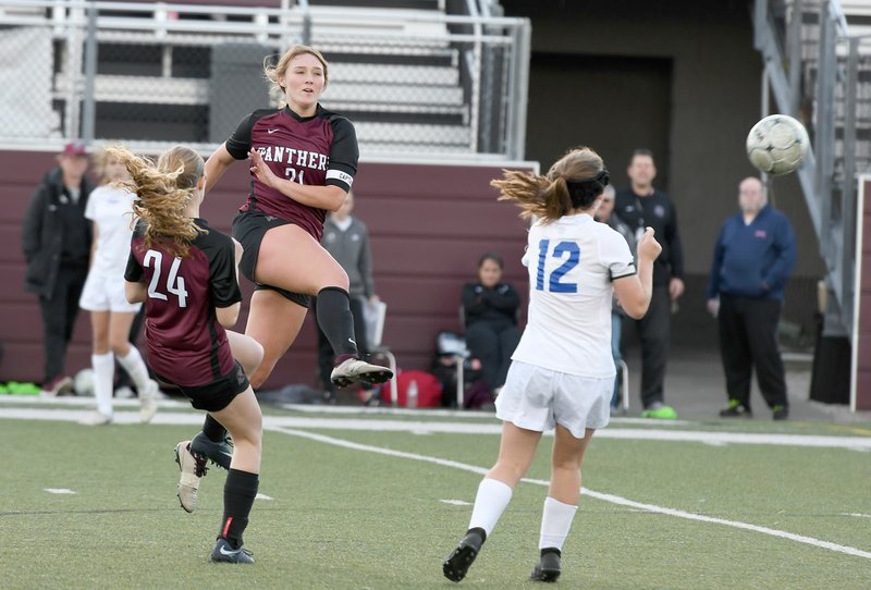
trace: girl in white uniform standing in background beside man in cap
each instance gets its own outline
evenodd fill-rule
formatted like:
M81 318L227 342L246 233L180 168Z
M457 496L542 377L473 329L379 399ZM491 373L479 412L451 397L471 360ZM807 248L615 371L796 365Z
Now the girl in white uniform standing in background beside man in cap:
M124 164L113 156L97 158L101 185L88 199L85 217L94 222L90 268L82 291L79 307L90 311L94 394L97 411L81 423L107 425L112 421L112 383L115 359L130 373L139 393L139 419L148 422L157 411L157 383L148 378L139 351L128 342L130 327L142 304L130 304L124 296L124 269L133 235L134 193L115 186L130 179Z

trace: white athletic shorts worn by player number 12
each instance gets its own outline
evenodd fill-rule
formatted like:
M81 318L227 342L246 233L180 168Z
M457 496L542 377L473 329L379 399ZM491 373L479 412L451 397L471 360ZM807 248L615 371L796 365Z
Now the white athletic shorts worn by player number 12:
M544 432L561 425L576 439L608 426L614 378L581 377L512 361L496 397L496 418Z

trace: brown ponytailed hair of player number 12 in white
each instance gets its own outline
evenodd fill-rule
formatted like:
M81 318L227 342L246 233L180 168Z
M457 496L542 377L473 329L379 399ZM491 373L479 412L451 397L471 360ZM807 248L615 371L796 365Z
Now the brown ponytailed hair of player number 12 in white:
M523 209L523 219L535 216L544 223L556 221L573 209L591 206L608 185L602 158L588 147L569 150L544 176L516 170L502 172L502 180L490 182L502 193L499 200L513 200ZM568 183L585 183L590 187L571 190Z

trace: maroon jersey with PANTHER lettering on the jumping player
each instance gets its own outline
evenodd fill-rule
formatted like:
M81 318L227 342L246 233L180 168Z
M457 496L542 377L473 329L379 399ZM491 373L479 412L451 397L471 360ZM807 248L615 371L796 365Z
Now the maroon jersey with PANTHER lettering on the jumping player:
M347 119L318 105L312 116L299 116L287 107L261 109L242 120L226 140L230 155L242 160L254 148L280 179L311 186L351 189L357 173L357 134ZM240 211L261 211L299 225L320 242L327 211L308 207L256 181Z

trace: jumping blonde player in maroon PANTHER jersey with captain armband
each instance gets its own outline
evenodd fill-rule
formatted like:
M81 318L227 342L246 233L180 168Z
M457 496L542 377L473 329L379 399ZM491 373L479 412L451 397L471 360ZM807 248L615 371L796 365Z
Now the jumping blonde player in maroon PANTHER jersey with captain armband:
M324 216L342 206L357 171L354 125L318 105L328 64L317 50L293 47L266 75L285 106L246 115L206 162L208 190L250 158L252 192L233 236L244 246L240 270L256 285L245 333L262 344L263 361L252 384L262 384L293 344L312 295L336 355L332 382L382 383L392 373L359 358L347 274L320 245Z

